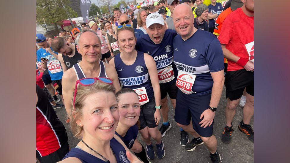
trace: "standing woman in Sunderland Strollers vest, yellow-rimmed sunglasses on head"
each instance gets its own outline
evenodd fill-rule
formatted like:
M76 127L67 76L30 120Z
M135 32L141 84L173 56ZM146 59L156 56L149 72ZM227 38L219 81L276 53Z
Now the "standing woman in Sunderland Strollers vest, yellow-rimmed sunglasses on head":
M122 50L109 64L117 71L122 88L133 89L139 97L141 108L139 132L146 143L146 154L155 159L151 137L156 141L157 157L165 156L164 144L157 126L160 121L160 86L157 68L152 56L135 50L136 38L131 24L117 26L117 43Z

